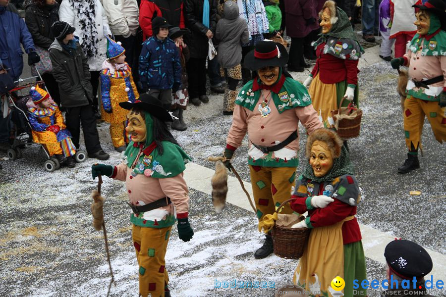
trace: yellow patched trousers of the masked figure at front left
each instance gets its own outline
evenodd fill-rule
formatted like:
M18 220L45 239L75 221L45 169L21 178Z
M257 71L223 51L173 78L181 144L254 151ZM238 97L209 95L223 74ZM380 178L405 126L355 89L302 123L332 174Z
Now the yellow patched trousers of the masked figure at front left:
M172 226L148 228L133 225L132 240L139 265L139 294L164 297L169 282L164 259Z

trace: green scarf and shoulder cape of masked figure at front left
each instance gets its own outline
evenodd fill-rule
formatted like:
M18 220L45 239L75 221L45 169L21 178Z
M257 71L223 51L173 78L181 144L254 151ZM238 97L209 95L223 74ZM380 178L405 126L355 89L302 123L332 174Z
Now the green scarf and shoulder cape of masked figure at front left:
M180 174L186 169L184 164L192 159L181 147L168 141L161 142L163 155L160 154L157 147L149 153L150 148L155 146L153 137L154 122L150 113L144 112L144 115L146 121L146 142L135 168L132 168L132 174L145 174L147 170L151 173L149 176L153 178L168 178ZM128 168L131 168L140 150L140 146L134 146L134 144L131 141L124 153Z

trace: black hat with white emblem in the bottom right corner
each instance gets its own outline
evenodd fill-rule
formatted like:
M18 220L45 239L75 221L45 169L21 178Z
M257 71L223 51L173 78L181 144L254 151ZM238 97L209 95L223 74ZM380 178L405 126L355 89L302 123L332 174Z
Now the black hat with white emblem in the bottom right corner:
M394 240L384 250L392 272L402 278L423 277L432 270L432 258L420 245L408 240Z

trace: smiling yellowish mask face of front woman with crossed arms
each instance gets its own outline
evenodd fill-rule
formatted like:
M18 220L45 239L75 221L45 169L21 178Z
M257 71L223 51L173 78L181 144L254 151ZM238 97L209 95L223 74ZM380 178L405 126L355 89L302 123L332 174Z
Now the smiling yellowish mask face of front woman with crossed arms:
M323 177L333 168L333 155L329 146L320 140L316 140L310 153L310 165L316 177Z

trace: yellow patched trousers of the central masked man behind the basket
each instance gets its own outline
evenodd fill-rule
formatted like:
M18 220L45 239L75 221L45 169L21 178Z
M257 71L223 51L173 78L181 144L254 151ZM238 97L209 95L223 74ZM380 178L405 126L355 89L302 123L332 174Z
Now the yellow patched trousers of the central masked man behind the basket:
M266 214L273 214L276 207L291 197L296 167L261 167L249 165L252 193L256 203L257 217L263 220ZM293 213L289 204L281 213Z

